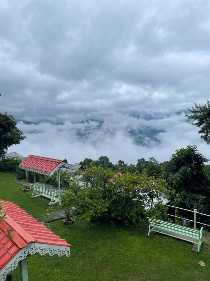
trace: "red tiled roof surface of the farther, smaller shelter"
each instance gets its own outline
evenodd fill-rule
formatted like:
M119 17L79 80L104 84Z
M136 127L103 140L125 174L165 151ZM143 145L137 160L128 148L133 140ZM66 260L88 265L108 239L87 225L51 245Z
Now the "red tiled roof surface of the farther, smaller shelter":
M20 163L20 167L51 173L63 160L47 158L36 155L28 155L28 157Z

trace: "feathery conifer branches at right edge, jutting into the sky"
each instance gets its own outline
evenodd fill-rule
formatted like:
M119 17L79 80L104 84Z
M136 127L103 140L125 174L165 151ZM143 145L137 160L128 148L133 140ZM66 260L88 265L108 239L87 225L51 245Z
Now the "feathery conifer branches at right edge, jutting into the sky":
M188 119L193 119L196 122L192 123L192 125L195 125L200 128L198 131L201 135L201 138L204 139L207 144L210 143L210 103L207 99L207 105L201 105L200 103L196 103L194 101L194 107L192 109L189 109L189 115L185 114L185 116L188 117Z

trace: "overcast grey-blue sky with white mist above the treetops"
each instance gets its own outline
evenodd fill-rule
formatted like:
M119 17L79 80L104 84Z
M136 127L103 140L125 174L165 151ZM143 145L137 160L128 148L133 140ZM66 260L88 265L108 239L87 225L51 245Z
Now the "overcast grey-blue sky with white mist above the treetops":
M184 116L209 97L209 14L207 0L1 0L0 111L39 123L19 122L9 152L136 163L192 144L210 158ZM145 127L162 132L137 145L128 131Z

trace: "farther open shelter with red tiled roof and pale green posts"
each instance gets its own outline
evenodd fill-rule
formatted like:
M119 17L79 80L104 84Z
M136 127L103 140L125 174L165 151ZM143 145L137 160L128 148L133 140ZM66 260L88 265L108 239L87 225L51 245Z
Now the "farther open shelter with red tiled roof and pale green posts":
M58 171L58 201L59 201L59 205L61 205L60 168L73 170L72 165L64 162L63 160L47 158L37 155L28 155L28 157L19 164L19 168L34 173L35 187L36 187L35 173L49 176L49 175L53 175L56 171ZM37 190L38 188L39 186L37 186ZM47 195L44 195L44 193L40 193L40 195L47 197ZM40 196L40 195L36 195L36 196Z

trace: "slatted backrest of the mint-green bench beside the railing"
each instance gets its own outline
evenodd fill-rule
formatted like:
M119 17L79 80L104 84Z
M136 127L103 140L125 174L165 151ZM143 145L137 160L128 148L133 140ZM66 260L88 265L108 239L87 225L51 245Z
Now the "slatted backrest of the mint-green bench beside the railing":
M188 228L185 226L181 226L179 224L171 224L169 222L159 219L151 219L151 218L147 218L147 219L152 227L172 231L178 234L186 235L191 238L200 239L202 237L203 228L199 231L197 229Z

